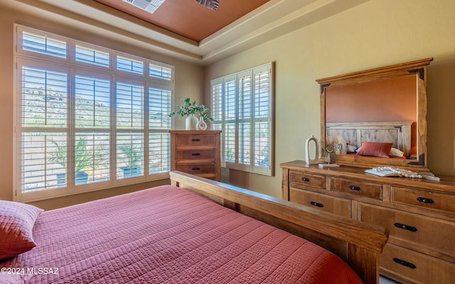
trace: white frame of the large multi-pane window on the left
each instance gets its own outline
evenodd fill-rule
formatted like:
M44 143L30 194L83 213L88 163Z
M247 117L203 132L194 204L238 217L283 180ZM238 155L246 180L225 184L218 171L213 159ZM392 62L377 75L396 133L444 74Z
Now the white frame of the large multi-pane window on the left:
M45 53L37 53L31 50L23 50L22 48L22 34L23 32L33 33L41 35L46 38L53 38L66 43L66 56L56 57L47 55ZM66 38L62 35L55 35L46 31L40 31L35 28L29 28L18 24L14 25L14 62L16 70L14 72L14 200L20 202L31 202L35 200L44 200L53 197L60 197L65 195L74 195L82 192L90 192L95 190L103 190L112 187L118 187L122 185L131 185L140 182L147 182L151 180L163 180L168 178L168 170L170 170L170 134L169 130L172 129L173 122L168 117L168 112L171 111L173 102L173 90L174 90L174 67L163 62L156 62L146 58L140 58L136 55L130 55L122 53L117 50L112 50L102 46L93 45L91 43L85 43L80 40L74 40L72 38ZM91 62L77 61L75 60L75 47L76 45L82 45L86 48L93 48L94 50L100 50L103 53L109 53L109 66L97 65ZM144 62L143 74L135 72L127 72L125 70L117 70L117 56L126 57L132 60L138 60ZM58 71L64 70L67 76L67 94L68 94L68 108L67 108L67 125L60 128L52 128L45 126L36 127L23 127L22 126L22 68L27 65L36 65L45 70ZM166 71L166 77L154 77L149 75L149 66L159 66ZM99 75L100 79L108 79L110 82L110 121L108 128L90 128L81 129L75 127L75 77L76 75L90 76L95 78L95 75ZM140 129L118 129L116 121L116 84L117 82L134 82L141 84L144 87L144 120L142 121L143 127ZM160 116L156 118L156 114L149 114L149 88L162 89L166 92L167 97L165 101L160 103L164 105L165 111L162 111ZM46 97L47 98L47 97ZM164 97L163 97L164 98ZM167 107L168 106L168 107ZM149 124L149 116L152 116L155 120L161 121L160 126L151 127ZM168 122L167 122L168 121ZM22 190L23 176L22 176L22 133L28 133L36 131L38 133L48 133L59 131L59 133L66 133L66 146L68 146L67 155L67 167L66 173L68 175L66 186L55 187L55 185L48 185L45 182L44 190L36 191L25 191ZM74 170L74 147L75 147L75 135L76 133L109 133L109 180L103 180L100 182L92 182L83 185L75 185L75 170ZM119 178L117 175L117 133L131 132L140 133L143 136L143 160L141 175L132 175L129 178ZM161 170L152 171L149 168L149 154L151 155L152 150L149 148L149 137L153 134L161 135L161 142L158 143L161 147L157 149L161 156L168 158L168 162L164 162L161 165ZM166 138L169 136L168 138ZM156 142L156 141L154 141ZM155 152L156 152L155 151ZM72 154L73 153L73 154ZM41 160L46 160L46 154L42 154ZM155 158L155 160L157 160ZM161 159L163 160L163 159ZM45 162L48 163L48 162ZM167 166L166 166L166 163ZM153 167L153 165L152 165ZM45 173L46 179L48 173Z

